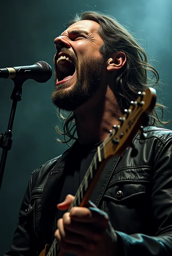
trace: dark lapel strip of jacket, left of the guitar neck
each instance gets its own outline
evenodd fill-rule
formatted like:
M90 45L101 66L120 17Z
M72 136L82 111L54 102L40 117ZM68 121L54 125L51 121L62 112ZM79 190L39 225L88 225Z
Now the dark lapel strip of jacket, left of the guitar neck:
M64 172L68 168L70 156L75 151L78 142L74 142L70 149L67 149L60 157L56 165L50 170L46 180L41 203L40 234L43 244L52 243L53 222L56 216L57 203L63 186Z

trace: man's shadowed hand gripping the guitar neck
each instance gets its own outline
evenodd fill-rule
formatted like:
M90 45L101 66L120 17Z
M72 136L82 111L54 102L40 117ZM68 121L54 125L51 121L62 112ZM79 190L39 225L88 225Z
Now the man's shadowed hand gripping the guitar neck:
M74 196L67 195L65 201L58 204L59 210L66 210ZM115 256L116 234L106 232L109 227L108 215L99 210L92 202L86 207L73 207L57 222L55 237L61 251L78 256Z

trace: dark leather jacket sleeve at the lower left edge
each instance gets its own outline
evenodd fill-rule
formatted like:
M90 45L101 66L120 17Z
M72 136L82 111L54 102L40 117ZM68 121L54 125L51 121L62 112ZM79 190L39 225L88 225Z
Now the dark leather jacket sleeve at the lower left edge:
M26 231L26 216L25 211L28 209L31 191L32 191L32 176L29 180L24 198L21 203L19 212L19 221L13 236L13 240L9 251L5 252L4 256L37 256L37 251L31 248L30 235Z

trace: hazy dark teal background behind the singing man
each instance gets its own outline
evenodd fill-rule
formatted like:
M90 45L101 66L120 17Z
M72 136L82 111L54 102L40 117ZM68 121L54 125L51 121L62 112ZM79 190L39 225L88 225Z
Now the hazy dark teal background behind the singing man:
M115 15L147 49L165 84L159 97L172 110L172 1L82 0L1 1L0 68L32 65L44 60L53 68L54 38L74 13L91 10ZM13 145L8 154L0 191L0 255L9 248L16 228L20 203L31 172L67 149L56 141L59 123L50 100L53 76L45 84L28 80L23 85L13 126ZM11 80L0 80L0 133L7 129L13 89ZM172 118L171 112L168 118ZM172 125L166 126L172 129ZM0 153L1 153L0 149Z

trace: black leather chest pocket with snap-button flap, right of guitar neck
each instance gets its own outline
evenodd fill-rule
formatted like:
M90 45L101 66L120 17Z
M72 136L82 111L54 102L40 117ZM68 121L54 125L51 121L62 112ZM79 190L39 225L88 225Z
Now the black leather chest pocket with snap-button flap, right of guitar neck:
M151 214L150 172L146 168L125 169L112 177L103 195L102 209L114 229L128 234L147 231Z

